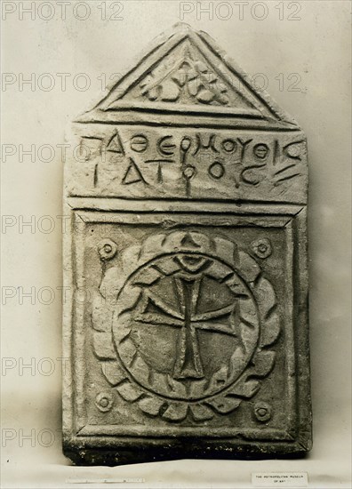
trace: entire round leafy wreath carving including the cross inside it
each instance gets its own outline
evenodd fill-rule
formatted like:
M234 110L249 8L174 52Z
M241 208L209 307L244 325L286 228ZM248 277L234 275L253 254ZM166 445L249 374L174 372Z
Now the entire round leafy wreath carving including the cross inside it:
M121 261L103 273L92 314L93 349L121 397L166 421L204 421L260 388L249 379L271 372L280 317L257 261L194 231L148 236Z

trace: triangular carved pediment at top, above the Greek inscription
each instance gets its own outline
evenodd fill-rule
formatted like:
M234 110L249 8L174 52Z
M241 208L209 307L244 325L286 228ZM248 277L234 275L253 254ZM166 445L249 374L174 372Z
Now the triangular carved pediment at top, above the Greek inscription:
M297 128L292 117L267 93L256 90L210 36L187 24L177 24L157 37L140 62L94 108L105 116L128 109L236 116Z

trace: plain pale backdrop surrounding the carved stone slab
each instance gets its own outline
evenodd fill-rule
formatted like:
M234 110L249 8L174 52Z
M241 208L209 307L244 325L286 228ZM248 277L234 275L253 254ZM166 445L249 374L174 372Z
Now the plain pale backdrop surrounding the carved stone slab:
M308 472L311 487L351 485L350 3L247 2L242 15L237 4L2 3L3 487L77 487L75 481L104 478L145 481L114 487L251 487L252 472L282 470ZM57 145L68 121L100 100L106 84L180 20L207 31L260 86L267 84L308 135L314 448L295 461L75 468L60 445L65 365Z

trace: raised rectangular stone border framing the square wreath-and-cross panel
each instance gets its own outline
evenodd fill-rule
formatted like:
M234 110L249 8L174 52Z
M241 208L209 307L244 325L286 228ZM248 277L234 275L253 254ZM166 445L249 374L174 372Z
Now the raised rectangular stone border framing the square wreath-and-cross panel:
M193 208L193 210L192 210ZM289 435L286 439L277 439L277 433L272 433L274 437L264 437L264 439L248 437L244 438L244 433L240 437L195 437L184 434L175 437L164 435L159 437L133 437L132 433L114 436L112 433L93 435L87 433L84 426L76 425L74 413L73 393L76 387L75 374L79 373L80 365L76 365L74 372L73 362L73 330L71 315L74 308L73 289L74 277L72 263L76 262L75 252L72 250L73 231L75 216L82 220L83 216L90 214L97 215L95 212L118 212L127 214L131 218L134 212L163 214L170 216L181 214L182 217L189 215L192 217L194 212L205 215L222 216L229 215L238 220L244 218L255 218L258 220L260 215L265 214L261 224L269 225L268 220L281 219L281 227L287 228L293 237L293 318L294 318L294 356L296 362L296 402L300 406L297 422L297 432L294 436ZM65 209L69 216L70 225L65 233L64 250L64 286L70 287L72 292L65 303L64 308L64 351L70 352L68 368L64 375L64 396L63 396L63 445L64 453L76 464L107 464L118 465L124 463L173 460L178 458L244 458L256 456L259 458L277 456L301 456L310 450L312 445L311 436L311 406L310 406L310 385L309 385L309 357L308 357L308 263L307 263L307 212L306 207L292 204L220 204L220 203L170 203L143 201L126 203L124 200L114 199L107 202L105 199L69 199ZM92 214L92 212L94 212ZM160 216L159 216L160 218ZM271 218L271 219L270 219ZM92 219L92 218L91 218ZM226 217L224 218L226 219ZM283 220L284 219L284 220ZM92 220L90 220L92 221ZM106 221L105 221L106 222ZM248 220L246 220L248 225ZM231 223L234 226L234 223ZM78 264L79 266L79 264ZM76 284L80 286L79 284ZM300 352L300 353L298 353ZM301 352L304 352L303 354ZM108 440L107 440L108 438ZM276 439L275 439L276 438ZM253 445L255 442L255 446Z

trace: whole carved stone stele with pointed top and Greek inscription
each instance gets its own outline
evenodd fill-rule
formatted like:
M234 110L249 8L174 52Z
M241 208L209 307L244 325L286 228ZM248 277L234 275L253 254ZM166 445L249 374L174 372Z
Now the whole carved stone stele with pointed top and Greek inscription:
M69 138L64 453L86 465L306 453L299 125L177 24Z

